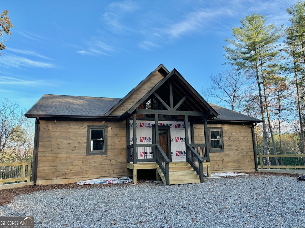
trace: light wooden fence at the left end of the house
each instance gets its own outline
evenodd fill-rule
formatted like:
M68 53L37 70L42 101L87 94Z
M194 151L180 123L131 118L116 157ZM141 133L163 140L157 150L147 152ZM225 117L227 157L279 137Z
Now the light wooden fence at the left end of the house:
M0 163L0 185L7 182L31 181L32 161Z

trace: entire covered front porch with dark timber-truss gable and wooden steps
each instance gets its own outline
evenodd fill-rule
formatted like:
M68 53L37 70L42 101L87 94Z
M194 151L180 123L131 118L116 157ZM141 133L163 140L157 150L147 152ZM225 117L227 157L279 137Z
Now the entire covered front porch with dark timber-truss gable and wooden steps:
M156 169L167 185L203 182L203 167L210 175L207 119L217 115L178 71L168 73L121 116L135 183L139 169Z

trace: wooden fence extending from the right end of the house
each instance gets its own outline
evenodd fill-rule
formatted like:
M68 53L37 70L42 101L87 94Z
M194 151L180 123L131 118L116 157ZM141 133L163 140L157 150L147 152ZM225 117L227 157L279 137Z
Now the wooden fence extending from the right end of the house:
M260 169L305 169L305 154L259 154L258 158Z

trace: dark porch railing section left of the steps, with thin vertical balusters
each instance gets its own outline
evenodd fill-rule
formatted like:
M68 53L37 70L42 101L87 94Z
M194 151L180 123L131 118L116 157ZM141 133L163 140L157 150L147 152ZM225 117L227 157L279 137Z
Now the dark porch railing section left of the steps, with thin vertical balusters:
M137 144L134 160L134 145L127 146L127 162L156 162L156 144Z

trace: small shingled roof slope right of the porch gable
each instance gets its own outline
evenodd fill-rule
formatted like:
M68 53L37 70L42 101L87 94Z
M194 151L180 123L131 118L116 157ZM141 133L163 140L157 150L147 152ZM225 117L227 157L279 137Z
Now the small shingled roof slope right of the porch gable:
M219 116L215 119L208 119L208 121L228 121L228 122L251 122L251 123L261 123L260 119L256 119L251 116L244 115L239 112L232 111L230 109L226 109L224 107L211 104L213 109L219 113Z

